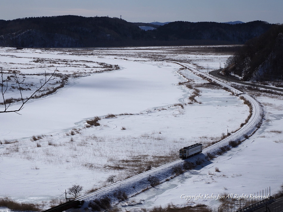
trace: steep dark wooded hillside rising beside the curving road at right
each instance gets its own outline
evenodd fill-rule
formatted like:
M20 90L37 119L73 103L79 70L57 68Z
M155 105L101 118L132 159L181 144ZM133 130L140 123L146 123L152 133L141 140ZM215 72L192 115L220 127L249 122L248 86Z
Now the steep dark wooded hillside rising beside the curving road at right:
M227 71L244 80L281 80L283 72L283 26L273 25L259 37L248 40L228 58Z

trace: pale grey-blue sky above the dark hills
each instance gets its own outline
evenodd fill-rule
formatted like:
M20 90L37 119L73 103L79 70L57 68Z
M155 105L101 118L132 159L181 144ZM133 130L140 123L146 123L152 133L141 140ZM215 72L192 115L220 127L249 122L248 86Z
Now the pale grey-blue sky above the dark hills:
M282 0L1 0L0 19L81 15L128 22L267 21L283 23Z

